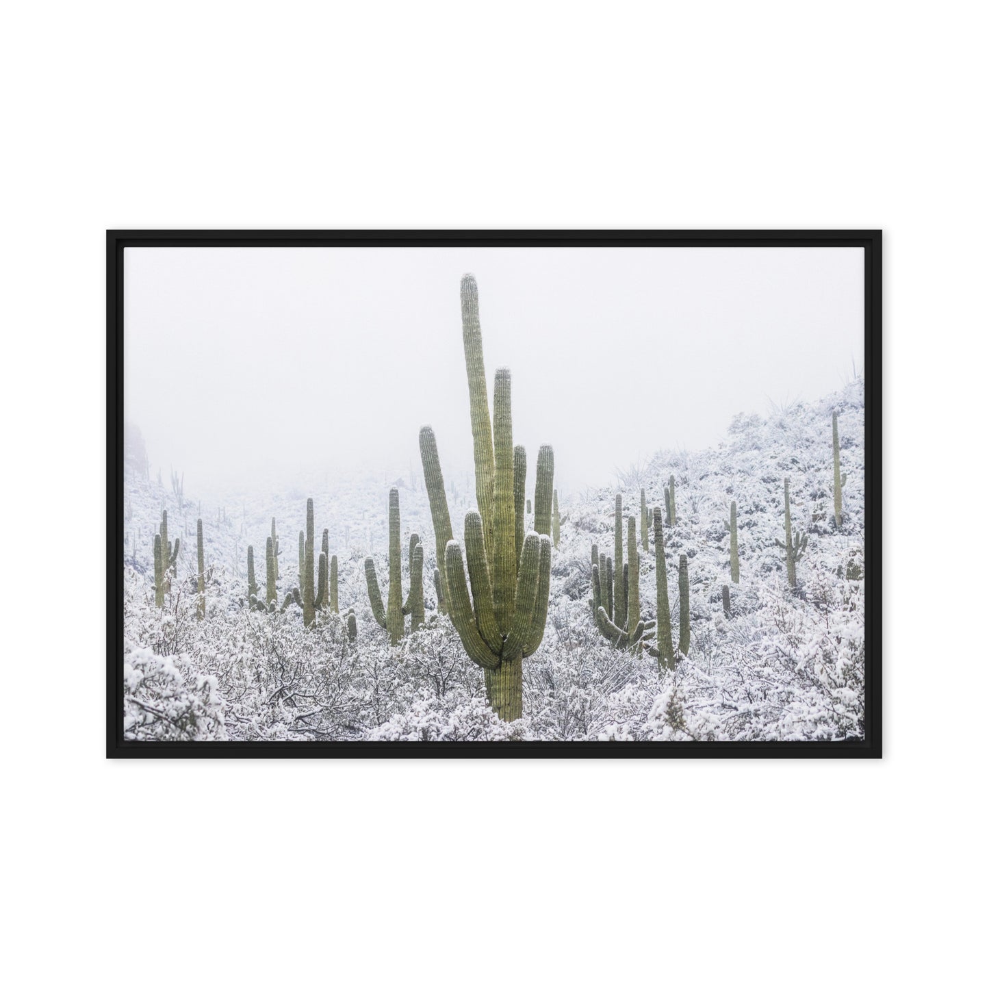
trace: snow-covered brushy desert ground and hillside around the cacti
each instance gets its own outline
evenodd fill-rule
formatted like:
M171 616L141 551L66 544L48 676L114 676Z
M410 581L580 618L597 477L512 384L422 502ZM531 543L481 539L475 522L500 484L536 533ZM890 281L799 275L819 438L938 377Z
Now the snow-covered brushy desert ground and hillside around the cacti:
M842 442L845 518L833 520L831 412ZM287 492L258 491L239 503L180 508L169 487L128 472L125 486L125 733L135 739L231 740L808 740L860 736L863 728L864 575L863 409L861 383L813 404L739 416L714 449L664 451L630 468L621 484L561 497L561 543L553 560L549 621L539 651L525 661L524 716L500 722L485 701L483 677L444 617L391 649L374 621L363 560L375 556L388 579L388 492L381 476L307 479ZM530 472L531 473L531 472ZM610 552L614 497L639 517L640 489L662 505L676 479L677 522L667 529L671 606L678 606L676 562L689 560L689 655L673 672L656 660L613 649L589 608L590 545ZM809 534L786 584L782 552L783 478L790 479L793 525ZM455 535L473 506L473 480L448 480ZM533 478L529 478L529 486ZM456 487L456 492L454 492ZM421 484L401 487L404 589L408 534L416 531L432 573L435 541ZM247 545L264 583L264 545L278 523L280 594L297 584L298 533L306 498L315 499L317 541L329 529L339 558L340 609L353 606L358 638L337 616L304 629L292 607L260 614L242 605ZM738 502L741 584L732 584L731 619L721 606L730 583L729 503ZM164 611L154 607L151 540L162 507L169 536L183 541L178 579ZM207 617L195 614L195 519L202 513ZM531 519L531 516L530 516ZM655 559L642 559L644 617L656 613ZM426 581L427 615L435 607ZM407 626L407 620L406 620Z

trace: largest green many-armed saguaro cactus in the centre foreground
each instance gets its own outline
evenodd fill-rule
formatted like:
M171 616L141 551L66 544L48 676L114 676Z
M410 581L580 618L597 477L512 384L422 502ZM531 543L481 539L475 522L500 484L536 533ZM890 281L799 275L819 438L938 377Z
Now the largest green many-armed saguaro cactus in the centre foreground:
M419 432L426 493L436 533L438 589L471 660L485 671L488 700L505 721L522 714L522 661L542 643L549 607L553 448L536 460L535 532L518 546L524 505L524 457L512 446L511 375L494 374L489 414L478 288L473 275L460 284L464 356L471 402L478 510L464 519L464 550L453 538L436 437ZM466 551L467 571L464 568ZM468 579L470 589L468 589Z

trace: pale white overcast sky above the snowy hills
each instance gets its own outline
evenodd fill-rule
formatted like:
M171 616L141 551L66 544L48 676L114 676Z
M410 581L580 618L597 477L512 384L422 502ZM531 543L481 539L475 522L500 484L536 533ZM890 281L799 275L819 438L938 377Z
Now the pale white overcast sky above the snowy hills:
M127 248L125 414L152 464L214 491L315 468L471 469L460 277L491 397L556 451L561 493L732 415L813 400L863 353L860 248Z

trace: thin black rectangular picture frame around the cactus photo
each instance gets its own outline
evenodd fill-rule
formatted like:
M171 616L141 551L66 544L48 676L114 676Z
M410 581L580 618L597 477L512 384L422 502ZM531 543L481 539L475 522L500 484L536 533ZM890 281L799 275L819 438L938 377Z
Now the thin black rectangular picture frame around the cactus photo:
M127 247L861 247L864 258L864 737L845 742L135 742L124 739L124 251ZM881 230L108 230L107 758L877 759L882 756Z

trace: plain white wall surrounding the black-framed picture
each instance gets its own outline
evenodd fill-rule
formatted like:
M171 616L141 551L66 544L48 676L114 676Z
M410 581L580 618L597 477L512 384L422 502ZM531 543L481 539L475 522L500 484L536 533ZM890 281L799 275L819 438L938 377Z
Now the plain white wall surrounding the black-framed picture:
M971 984L982 16L861 0L7 11L13 982ZM887 758L105 762L108 226L883 227Z

